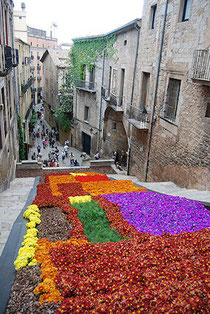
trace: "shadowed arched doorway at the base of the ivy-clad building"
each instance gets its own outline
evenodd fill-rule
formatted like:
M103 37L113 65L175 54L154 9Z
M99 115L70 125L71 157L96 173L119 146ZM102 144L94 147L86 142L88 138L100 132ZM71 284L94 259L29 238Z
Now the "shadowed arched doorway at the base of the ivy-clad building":
M103 155L113 157L113 152L118 152L119 162L122 166L127 163L128 139L123 125L123 112L116 112L108 107L104 114L103 128Z

